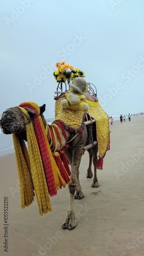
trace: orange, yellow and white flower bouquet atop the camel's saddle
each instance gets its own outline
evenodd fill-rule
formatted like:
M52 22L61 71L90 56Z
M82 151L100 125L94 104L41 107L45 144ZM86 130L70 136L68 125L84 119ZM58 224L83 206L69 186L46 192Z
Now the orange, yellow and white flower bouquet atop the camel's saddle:
M79 69L74 69L73 66L70 66L68 63L57 62L57 70L54 72L54 77L57 82L65 82L66 80L74 80L76 77L84 77L84 72Z

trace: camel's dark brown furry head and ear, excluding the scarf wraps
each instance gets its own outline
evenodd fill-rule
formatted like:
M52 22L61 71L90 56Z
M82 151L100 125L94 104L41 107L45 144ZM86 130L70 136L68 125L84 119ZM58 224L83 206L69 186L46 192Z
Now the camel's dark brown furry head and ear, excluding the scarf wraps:
M18 108L18 106L14 106L12 108L7 109L3 112L0 126L2 132L4 134L12 134L12 133L23 133L26 131L26 125L35 117L35 112L29 108L25 108L30 116L28 121L25 121L23 113ZM45 111L45 104L40 106L40 115ZM42 115L43 116L43 115ZM43 117L44 118L44 117Z

